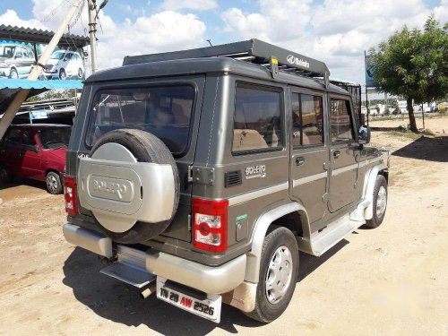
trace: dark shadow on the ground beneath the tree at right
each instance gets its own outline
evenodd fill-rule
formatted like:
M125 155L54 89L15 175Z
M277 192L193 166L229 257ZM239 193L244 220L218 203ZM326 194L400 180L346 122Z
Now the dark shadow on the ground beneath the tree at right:
M422 136L415 142L392 152L392 155L409 159L448 162L448 136L434 138Z

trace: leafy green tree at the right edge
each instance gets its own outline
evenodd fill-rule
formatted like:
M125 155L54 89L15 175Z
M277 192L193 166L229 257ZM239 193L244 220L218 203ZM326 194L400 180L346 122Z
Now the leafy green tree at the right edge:
M404 26L371 55L381 90L406 99L410 129L418 132L413 100L421 104L448 93L448 24L442 29L430 16L423 31Z

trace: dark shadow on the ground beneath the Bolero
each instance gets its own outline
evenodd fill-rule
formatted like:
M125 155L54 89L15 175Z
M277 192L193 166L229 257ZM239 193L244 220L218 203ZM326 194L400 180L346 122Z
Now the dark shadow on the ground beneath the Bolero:
M299 281L305 279L347 244L349 242L344 239L319 258L301 254ZM143 300L138 289L99 273L102 267L104 266L99 263L98 256L76 247L65 261L63 282L73 289L74 297L83 305L110 321L128 326L144 324L164 335L204 335L215 328L237 333L236 325L263 326L263 323L249 319L232 306L222 306L221 322L216 324L170 306L155 295Z

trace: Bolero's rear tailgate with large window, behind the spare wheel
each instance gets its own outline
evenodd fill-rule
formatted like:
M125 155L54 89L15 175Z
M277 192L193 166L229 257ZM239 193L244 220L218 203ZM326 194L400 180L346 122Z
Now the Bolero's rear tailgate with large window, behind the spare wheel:
M75 140L83 147L77 150L78 157L89 155L101 136L119 128L142 129L165 142L177 162L180 199L176 216L162 236L185 242L191 241L192 184L188 173L194 162L204 84L204 75L194 75L95 86L86 108L85 140ZM76 129L73 132L76 134Z

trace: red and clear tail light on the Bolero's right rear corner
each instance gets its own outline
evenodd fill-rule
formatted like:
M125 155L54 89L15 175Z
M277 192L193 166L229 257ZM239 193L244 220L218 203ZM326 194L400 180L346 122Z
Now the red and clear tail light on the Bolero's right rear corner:
M193 199L193 246L205 251L227 250L228 200L210 201Z

